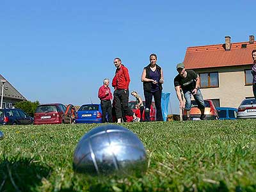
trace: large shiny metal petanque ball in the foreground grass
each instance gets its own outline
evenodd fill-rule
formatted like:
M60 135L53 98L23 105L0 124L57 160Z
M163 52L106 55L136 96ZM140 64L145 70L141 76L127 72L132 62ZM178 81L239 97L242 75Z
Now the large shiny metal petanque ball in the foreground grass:
M147 170L143 143L129 129L102 125L84 134L74 152L73 168L86 175L141 176Z

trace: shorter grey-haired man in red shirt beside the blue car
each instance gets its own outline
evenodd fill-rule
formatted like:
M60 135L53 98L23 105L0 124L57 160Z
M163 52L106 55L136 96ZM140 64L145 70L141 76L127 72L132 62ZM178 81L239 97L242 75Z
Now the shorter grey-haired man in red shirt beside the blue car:
M112 93L109 88L109 79L103 80L103 85L99 88L98 97L100 99L100 106L102 109L102 123L106 123L106 114L108 113L108 122L112 122L112 106L111 106L111 99Z

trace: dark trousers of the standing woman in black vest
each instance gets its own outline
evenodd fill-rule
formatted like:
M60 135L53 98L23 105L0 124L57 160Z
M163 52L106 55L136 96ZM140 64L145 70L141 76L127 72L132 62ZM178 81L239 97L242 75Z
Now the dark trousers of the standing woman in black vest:
M156 105L156 120L163 121L162 109L161 109L161 94L162 92L158 90L157 92L144 92L145 96L145 108L150 109L152 98L154 96L155 105ZM150 121L150 111L145 110L145 122Z

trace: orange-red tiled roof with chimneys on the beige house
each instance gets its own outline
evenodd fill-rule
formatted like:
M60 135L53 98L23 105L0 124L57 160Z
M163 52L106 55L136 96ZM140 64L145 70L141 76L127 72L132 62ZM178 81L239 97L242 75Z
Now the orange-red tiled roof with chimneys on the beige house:
M204 45L188 47L184 58L184 65L188 69L231 67L237 65L250 65L253 63L252 51L256 49L254 36L250 36L249 42L231 43L226 36L225 44ZM229 44L229 50L227 46Z

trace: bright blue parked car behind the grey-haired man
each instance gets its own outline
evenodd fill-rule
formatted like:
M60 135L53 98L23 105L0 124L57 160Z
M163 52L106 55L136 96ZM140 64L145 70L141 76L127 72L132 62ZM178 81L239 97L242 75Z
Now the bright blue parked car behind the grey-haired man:
M84 104L77 111L76 124L102 123L102 109L100 104Z

